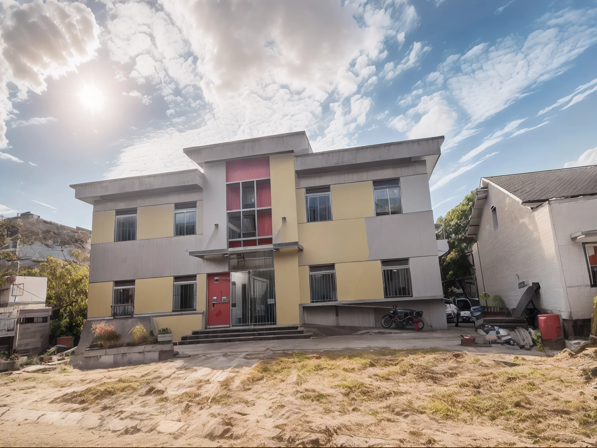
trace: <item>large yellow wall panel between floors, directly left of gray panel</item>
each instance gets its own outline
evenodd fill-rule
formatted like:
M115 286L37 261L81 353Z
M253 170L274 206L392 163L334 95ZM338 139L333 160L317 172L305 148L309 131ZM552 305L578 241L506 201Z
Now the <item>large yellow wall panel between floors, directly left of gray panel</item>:
M365 261L369 257L364 218L299 224L298 242L304 247L298 254L301 266Z

